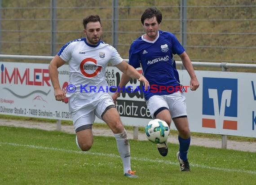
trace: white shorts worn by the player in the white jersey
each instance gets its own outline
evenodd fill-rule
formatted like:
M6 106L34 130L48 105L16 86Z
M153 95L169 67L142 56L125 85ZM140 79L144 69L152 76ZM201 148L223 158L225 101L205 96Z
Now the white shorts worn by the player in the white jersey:
M111 105L115 106L108 93L99 93L90 99L71 96L68 103L75 130L83 125L93 124L95 115L102 119L102 114L106 108Z

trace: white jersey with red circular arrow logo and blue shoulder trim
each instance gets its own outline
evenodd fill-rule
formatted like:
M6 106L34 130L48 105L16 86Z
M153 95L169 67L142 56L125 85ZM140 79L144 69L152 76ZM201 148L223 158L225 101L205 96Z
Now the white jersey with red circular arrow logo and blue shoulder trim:
M66 96L75 95L79 98L106 93L108 84L105 80L105 70L108 62L115 66L123 61L114 47L103 41L91 45L85 38L68 42L62 46L58 56L69 63L70 89L67 89ZM71 88L72 86L74 88Z

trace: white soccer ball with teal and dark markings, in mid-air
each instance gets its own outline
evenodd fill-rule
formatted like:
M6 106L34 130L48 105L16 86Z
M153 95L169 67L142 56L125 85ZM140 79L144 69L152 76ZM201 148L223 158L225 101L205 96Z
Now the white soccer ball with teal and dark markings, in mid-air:
M151 120L145 128L146 136L153 143L167 141L170 133L168 124L161 119Z

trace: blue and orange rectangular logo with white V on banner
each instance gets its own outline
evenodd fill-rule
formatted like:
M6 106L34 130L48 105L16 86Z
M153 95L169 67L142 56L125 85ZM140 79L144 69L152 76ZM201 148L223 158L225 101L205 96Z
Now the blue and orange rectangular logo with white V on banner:
M238 80L203 78L203 128L237 130Z

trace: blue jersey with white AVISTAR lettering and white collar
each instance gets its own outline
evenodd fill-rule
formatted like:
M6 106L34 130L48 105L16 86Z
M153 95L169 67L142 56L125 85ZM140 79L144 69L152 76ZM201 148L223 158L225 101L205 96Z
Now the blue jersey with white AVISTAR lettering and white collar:
M134 68L142 66L150 83L150 90L144 92L146 100L154 95L185 92L173 58L174 54L179 55L185 49L172 33L160 30L158 33L154 41L145 40L142 35L133 41L129 50L129 64Z

